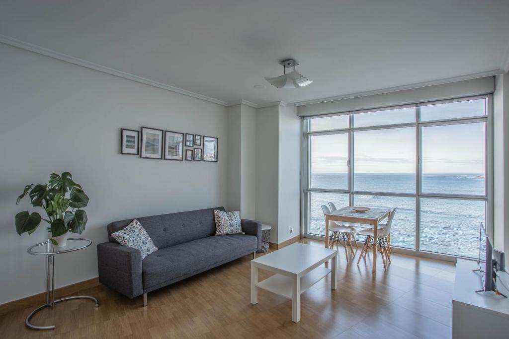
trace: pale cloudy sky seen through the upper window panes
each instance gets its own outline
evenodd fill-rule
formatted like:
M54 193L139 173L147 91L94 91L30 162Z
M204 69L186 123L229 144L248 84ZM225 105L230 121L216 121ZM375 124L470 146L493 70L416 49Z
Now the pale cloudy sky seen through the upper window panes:
M484 114L485 100L422 106L422 120ZM415 108L354 115L354 127L415 121ZM312 119L312 130L348 128L348 115ZM356 131L356 173L415 173L415 127ZM422 173L479 173L485 169L485 122L422 127ZM313 136L313 173L347 173L348 134Z

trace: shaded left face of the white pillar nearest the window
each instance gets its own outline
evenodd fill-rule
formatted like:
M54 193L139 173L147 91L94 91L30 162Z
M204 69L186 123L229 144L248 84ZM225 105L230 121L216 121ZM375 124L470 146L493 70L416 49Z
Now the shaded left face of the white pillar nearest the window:
M257 109L256 219L272 226L274 243L278 243L278 119L278 106Z

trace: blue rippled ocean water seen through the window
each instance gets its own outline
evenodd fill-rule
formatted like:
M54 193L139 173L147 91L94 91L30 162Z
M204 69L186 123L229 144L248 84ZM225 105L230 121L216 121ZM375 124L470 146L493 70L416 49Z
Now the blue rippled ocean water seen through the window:
M344 173L312 175L313 188L348 189ZM354 177L356 191L414 193L413 174L360 173ZM484 195L484 174L423 174L425 193ZM324 235L321 205L332 201L336 208L349 205L348 194L310 193L310 233ZM415 249L415 198L354 195L354 205L398 207L391 226L391 244ZM477 258L479 224L486 225L484 201L420 198L420 249L423 251ZM357 240L363 240L360 236Z

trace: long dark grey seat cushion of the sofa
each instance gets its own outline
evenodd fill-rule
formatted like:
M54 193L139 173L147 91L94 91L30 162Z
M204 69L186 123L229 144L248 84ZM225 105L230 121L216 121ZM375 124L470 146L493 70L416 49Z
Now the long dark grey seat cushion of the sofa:
M210 236L160 249L143 261L143 289L252 253L257 245L256 236L231 234Z

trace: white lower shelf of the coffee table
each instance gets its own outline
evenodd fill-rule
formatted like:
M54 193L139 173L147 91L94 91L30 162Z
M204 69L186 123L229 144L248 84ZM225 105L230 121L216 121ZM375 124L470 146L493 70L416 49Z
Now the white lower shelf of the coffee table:
M330 268L317 267L300 278L300 293L307 291L310 287L325 278L331 272ZM274 274L270 278L256 284L256 287L263 290L292 299L292 291L295 280L282 274Z

